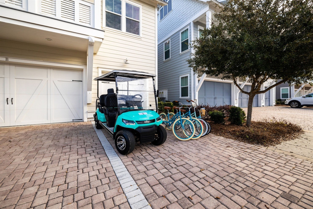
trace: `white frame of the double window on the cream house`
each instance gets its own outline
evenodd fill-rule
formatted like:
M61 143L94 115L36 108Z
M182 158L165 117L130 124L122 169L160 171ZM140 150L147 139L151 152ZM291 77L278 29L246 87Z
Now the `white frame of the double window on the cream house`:
M105 1L103 2L103 5L102 5L102 11L103 14L103 23L102 23L102 27L105 28L105 29L108 29L108 30L114 30L114 31L118 31L118 32L122 32L122 33L125 33L125 34L128 34L128 35L134 35L136 37L140 36L141 37L141 29L142 29L142 5L140 4L137 4L137 3L134 3L132 1L128 1L128 0L121 0L122 1L122 20L121 20L121 30L118 30L118 29L114 29L114 28L110 28L110 27L106 27L105 26L105 22L106 22L106 17L105 17ZM139 22L139 35L137 34L133 34L133 33L129 33L129 32L126 32L126 3L129 3L131 5L134 5L136 7L139 7L139 21L136 20L137 22ZM110 12L110 11L109 11ZM112 12L110 12L112 13ZM114 13L115 14L115 13ZM127 17L128 18L128 17ZM128 18L128 19L131 19L131 20L135 20L135 19L132 19L132 18Z

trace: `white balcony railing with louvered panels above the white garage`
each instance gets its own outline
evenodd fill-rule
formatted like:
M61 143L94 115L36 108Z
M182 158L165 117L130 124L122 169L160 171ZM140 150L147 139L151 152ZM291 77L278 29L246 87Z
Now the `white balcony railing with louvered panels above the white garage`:
M95 5L84 0L0 0L0 4L95 27Z

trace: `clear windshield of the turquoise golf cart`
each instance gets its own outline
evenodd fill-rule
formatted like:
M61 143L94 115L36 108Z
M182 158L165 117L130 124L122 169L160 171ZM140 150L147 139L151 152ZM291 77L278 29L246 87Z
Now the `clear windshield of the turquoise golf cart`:
M156 110L153 80L150 78L133 78L116 76L117 103L120 112L129 110Z

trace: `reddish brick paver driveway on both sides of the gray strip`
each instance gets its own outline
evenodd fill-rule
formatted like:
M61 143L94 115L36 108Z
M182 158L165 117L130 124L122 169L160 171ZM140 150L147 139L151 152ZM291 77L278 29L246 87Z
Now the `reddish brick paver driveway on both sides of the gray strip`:
M153 209L313 208L312 161L167 134L119 154ZM0 128L0 142L0 208L130 208L90 122Z

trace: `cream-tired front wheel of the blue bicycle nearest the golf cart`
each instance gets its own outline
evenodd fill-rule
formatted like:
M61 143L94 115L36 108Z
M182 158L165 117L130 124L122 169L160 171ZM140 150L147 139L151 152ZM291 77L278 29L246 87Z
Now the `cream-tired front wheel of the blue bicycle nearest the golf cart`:
M172 125L172 131L176 138L181 141L191 139L195 132L195 126L187 118L178 118Z

